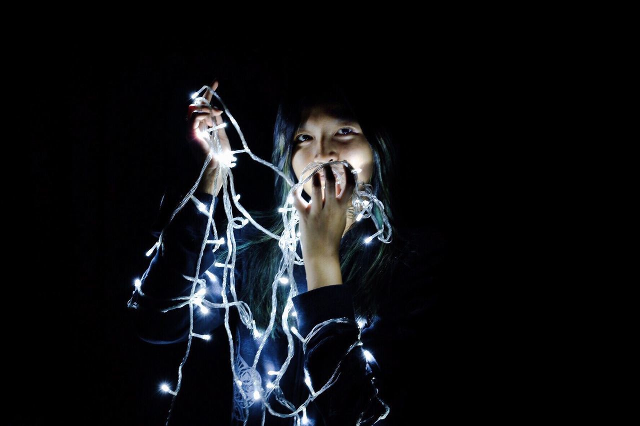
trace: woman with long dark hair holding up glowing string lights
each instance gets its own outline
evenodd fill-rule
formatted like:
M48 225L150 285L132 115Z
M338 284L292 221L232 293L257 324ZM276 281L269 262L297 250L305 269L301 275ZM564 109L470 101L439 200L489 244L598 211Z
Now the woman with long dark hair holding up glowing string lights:
M218 82L211 88L216 90ZM211 101L210 93L207 101ZM272 163L292 182L300 182L308 176L303 170L310 163L347 161L360 169L358 180L371 185L393 225L389 188L394 151L388 135L377 125L380 120L372 120L356 101L339 84L292 84L278 108ZM192 104L189 114L189 146L196 160L204 164L209 145L197 131L223 123L223 111L215 107L202 111ZM223 150L230 150L224 129L220 130L220 140ZM209 162L194 194L207 212L211 203L216 209L222 186L223 173L216 173L223 168L218 160L214 157ZM334 173L342 173L342 185L336 185ZM195 309L196 337L189 340L188 356L180 365L180 388L173 398L168 424L260 424L262 416L267 425L385 425L415 420L410 415L415 393L407 390L406 379L400 376L408 367L403 365L402 353L408 345L415 345L429 327L429 316L435 315L438 306L431 306L437 299L434 274L425 259L418 260L416 246L401 240L396 229L392 229L388 244L377 239L365 242L376 228L371 220L357 221L351 214L351 193L356 186L352 176L347 168L325 167L303 185L304 193L298 191L294 196L293 205L300 214L298 255L305 263L294 267L299 294L293 298L296 319L292 324L305 338L326 320L347 320L326 324L308 340L304 351L300 340L294 340L294 357L279 382L279 390L291 405L287 409L273 395L268 402L278 413L291 413L307 400L310 385L319 390L340 365L335 383L313 398L298 416L280 418L265 413L260 398L273 386L269 379L276 377L274 373L287 358L282 324L276 320L253 370L260 333L253 335L233 308L208 313ZM252 213L258 223L276 235L284 229L277 207L285 205L289 189L289 184L276 175L275 207L269 210L272 213ZM377 214L381 223L380 212ZM186 278L195 276L196 271L207 283L205 299L222 303L225 267L215 265L225 262L227 253L222 248L227 246L215 253L205 249L196 268L208 219L189 202L164 230L163 245L145 272L140 290L129 302L143 340L188 340L189 308L161 311L175 305L170 299L191 295L193 280ZM250 306L256 330L265 331L273 306L270 283L282 251L273 238L253 226L236 232L236 244L237 296ZM276 319L282 317L287 294L287 285L278 288ZM231 299L230 294L227 297ZM228 329L225 315L229 316ZM255 399L245 400L232 380L228 335L234 336L236 345L233 362L242 381L238 386ZM356 346L354 350L358 335L362 348ZM420 375L412 376L411 380L421 380Z

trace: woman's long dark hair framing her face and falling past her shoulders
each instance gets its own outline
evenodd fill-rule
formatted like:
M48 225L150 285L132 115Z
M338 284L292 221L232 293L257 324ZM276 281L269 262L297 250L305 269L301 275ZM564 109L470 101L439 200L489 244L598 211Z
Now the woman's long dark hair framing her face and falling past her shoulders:
M375 109L371 102L357 93L349 93L350 88L351 86L336 79L290 81L280 97L273 130L271 162L292 182L298 182L291 165L293 136L301 123L303 111L308 111L312 106L338 102L346 106L360 124L373 152L374 170L369 183L373 193L385 206L385 214L394 233L392 242L389 244L377 239L370 244L365 244L365 237L376 232L376 228L372 225L371 219L354 222L340 242L340 269L342 282L349 283L353 289L356 316L371 321L379 311L381 297L388 289L390 273L398 260L396 246L399 235L395 232L390 194L396 152L388 130L383 127L380 119L375 120L376 117L372 114ZM278 212L278 207L285 205L289 189L291 189L289 184L275 173L273 208L266 212L251 212L262 226L276 235L280 235L284 230L282 214ZM374 209L374 212L378 223L382 223L377 209ZM344 244L346 246L343 246ZM245 262L243 265L244 285L241 287L239 297L249 304L257 326L264 330L268 326L272 309L270 284L278 271L282 251L277 241L264 233L260 233L251 241L239 243L236 249L238 255L250 249L251 258L258 260L251 264ZM276 325L272 336L282 333L282 326L277 319L282 315L288 292L289 288L278 286Z

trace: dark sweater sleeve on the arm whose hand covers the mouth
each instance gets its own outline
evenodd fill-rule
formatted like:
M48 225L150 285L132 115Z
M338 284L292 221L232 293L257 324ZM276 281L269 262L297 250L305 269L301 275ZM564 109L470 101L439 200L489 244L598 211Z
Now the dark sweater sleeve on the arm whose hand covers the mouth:
M327 383L341 361L335 383L314 400L324 424L372 425L385 413L386 406L377 397L378 390L372 383L372 370L362 347L349 351L360 335L351 288L344 284L319 287L294 297L293 303L300 333L305 338L326 320L348 319L323 326L307 342L305 369L314 391Z

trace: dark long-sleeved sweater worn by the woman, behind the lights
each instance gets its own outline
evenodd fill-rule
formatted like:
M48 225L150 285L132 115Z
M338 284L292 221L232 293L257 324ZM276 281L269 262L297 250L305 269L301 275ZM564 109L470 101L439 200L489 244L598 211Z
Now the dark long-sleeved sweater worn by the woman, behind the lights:
M195 196L204 203L207 210L212 202L215 203L214 209L216 208L218 198L200 192L196 192ZM134 291L128 304L132 322L142 340L156 344L188 340L189 306L166 313L159 310L177 303L170 301L171 298L191 294L193 282L186 280L185 276L195 275L207 219L207 215L189 200L166 228L163 245L157 249L143 275L142 294ZM255 235L250 228L255 231L251 224L236 230L236 242L242 241L247 235ZM226 241L224 229L218 230L219 233L221 231L223 233L220 237L225 237ZM349 233L344 238L348 235ZM157 236L159 233L156 233ZM211 232L208 239L214 239ZM372 244L382 243L374 240ZM341 244L342 247L344 244ZM300 245L298 250L300 253ZM300 340L294 336L294 358L280 381L280 388L284 397L296 407L309 395L304 368L307 368L312 386L317 391L331 377L342 359L336 383L308 405L309 425L356 425L363 414L360 424L371 425L385 413L383 402L390 407L390 413L376 425L417 424L422 415L419 413L424 412L424 409L432 407L433 411L442 410L442 405L436 406L446 400L440 394L446 374L437 370L437 364L442 364L440 345L443 343L442 333L445 330L440 322L443 306L437 276L440 273L438 265L442 264L442 251L432 249L420 253L407 250L406 253L406 258L401 259L401 264L394 271L394 283L390 283L390 291L380 314L362 329L362 347L355 347L346 355L360 333L355 322L350 283L307 291L304 266L294 266L294 278L300 294L293 298L293 303L301 336L307 336L316 324L324 320L349 319L323 327L307 343L306 353L303 353ZM212 253L212 245L207 244L200 263L200 278L207 283L205 299L213 303L222 303L224 268L214 266L214 262L224 263L225 259L216 258L218 254ZM250 251L236 259L238 295L241 294L243 285L243 262L248 260L260 261L251 258ZM215 278L212 279L205 271L214 274ZM196 286L198 288L200 285ZM228 278L227 298L232 301ZM228 315L230 333L234 335L236 344L234 353L240 354L236 370L243 380L244 390L251 397L255 379L250 377L250 370L246 367L252 365L259 341L239 320L235 307L229 308ZM168 425L242 424L244 412L236 404L239 395L232 382L229 365L225 309L212 308L209 313L203 314L194 305L193 317L193 333L211 335L211 339L193 337L189 357L182 368L182 385L168 414ZM279 320L276 317L276 321ZM286 356L286 338L269 338L257 365L265 390L266 383L275 377L270 376L268 371L278 370ZM169 384L172 390L175 390L176 383L177 377ZM165 397L172 398L172 395L166 394ZM250 402L252 406L247 424L259 425L262 402L253 403L252 398ZM282 407L273 395L269 398L269 404L278 413L291 411ZM277 418L267 412L265 424L296 423L294 418Z

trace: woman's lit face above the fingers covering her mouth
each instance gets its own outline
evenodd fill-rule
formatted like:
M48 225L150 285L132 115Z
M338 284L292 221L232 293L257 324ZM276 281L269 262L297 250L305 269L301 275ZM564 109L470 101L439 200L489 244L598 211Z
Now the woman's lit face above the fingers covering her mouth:
M324 104L312 107L308 116L303 114L302 122L294 133L291 165L298 182L312 171L302 170L311 162L348 161L358 171L358 180L369 183L373 173L373 152L364 137L362 128L354 120L340 118L339 104ZM335 166L334 166L335 167ZM343 171L342 165L338 169ZM319 171L324 187L324 170ZM344 182L344 180L343 180ZM308 196L311 194L312 179L303 185ZM341 189L340 189L341 190Z

